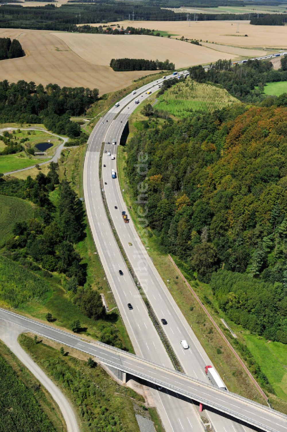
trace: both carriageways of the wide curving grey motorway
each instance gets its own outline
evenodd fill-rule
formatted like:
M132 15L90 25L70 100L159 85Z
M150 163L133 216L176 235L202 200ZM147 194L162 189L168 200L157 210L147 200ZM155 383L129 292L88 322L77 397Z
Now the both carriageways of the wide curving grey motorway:
M183 73L185 72L186 71ZM104 204L100 193L98 161L102 143L105 143L104 149L107 153L110 152L116 155L117 145L120 142L125 124L129 115L137 107L135 100L139 99L140 102L144 101L149 97L146 91L148 89L151 90L152 93L157 91L158 85L162 81L163 79L159 79L157 82L150 83L138 89L135 95L127 95L120 101L119 107L114 106L107 112L95 126L89 138L84 165L84 196L88 221L101 262L107 274L107 279L112 291L115 292L115 299L120 314L123 317L136 353L146 359L154 361L156 361L155 356L157 355L155 349L152 351L148 349L147 351L145 342L147 341L148 343L148 340L151 340L151 343L156 346L156 350L160 349L159 346L161 343L156 342L158 341L158 336L155 335L155 331L151 333L150 330L145 328L147 319L142 317L145 305L139 296L138 289L132 281L126 264L119 253L113 233L108 226L108 220L104 214ZM114 139L117 140L117 145L112 144ZM126 209L123 202L118 180L111 178L112 168L117 172L117 159L111 160L110 156L107 156L107 153L103 153L102 159L102 177L104 183L106 183L104 184L105 197L115 229L117 230L126 255L129 258L129 262L132 264L140 286L142 286L142 289L145 291L148 301L155 311L159 322L161 322L161 318L167 319L168 324L163 326L163 329L184 371L190 376L209 382L205 375L204 368L205 365L212 364L210 359L208 359L199 340L197 340L195 334L192 332L192 329L170 295L167 286L158 274L132 221L130 221L129 224L123 222L121 212L125 210L128 213L128 209ZM104 165L106 165L106 167L104 167ZM117 206L117 209L115 209L115 206ZM100 218L98 217L99 215ZM105 230L104 233L103 229ZM129 246L129 242L132 243L132 246ZM119 275L119 270L123 271L123 276ZM134 311L136 309L136 322L134 322L134 318L132 317L133 311L129 311L127 308L127 303L132 303ZM145 324L143 325L142 323ZM180 345L180 340L183 339L187 340L190 349L184 350ZM139 351L136 349L136 346L138 346ZM161 358L164 358L162 355ZM165 357L167 357L167 355L165 355ZM209 411L207 414L214 429L218 432L228 432L229 430L247 432L252 430L246 426L241 426L237 422L231 422L230 419L219 416L218 414ZM183 430L189 430L189 425L187 424L186 426L187 429L183 428ZM177 430L176 427L174 430Z

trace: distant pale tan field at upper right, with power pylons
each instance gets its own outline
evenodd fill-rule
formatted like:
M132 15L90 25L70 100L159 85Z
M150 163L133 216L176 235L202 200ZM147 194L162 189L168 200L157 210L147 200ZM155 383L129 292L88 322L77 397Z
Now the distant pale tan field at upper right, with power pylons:
M125 27L132 22L117 24ZM246 48L287 48L287 26L284 25L250 25L249 21L198 21L191 22L190 26L187 21L137 21L134 25L178 35L173 38L184 36Z

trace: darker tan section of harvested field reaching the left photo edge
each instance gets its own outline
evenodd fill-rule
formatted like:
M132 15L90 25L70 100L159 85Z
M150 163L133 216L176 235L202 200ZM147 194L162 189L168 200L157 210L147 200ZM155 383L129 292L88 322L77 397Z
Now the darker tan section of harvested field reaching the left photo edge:
M102 66L100 59L98 64L92 64L79 57L57 35L61 33L0 29L0 37L17 37L26 53L26 57L1 60L0 80L17 82L25 79L44 86L57 83L59 86L98 88L103 94L122 89L133 79L155 72L114 72L110 67ZM94 47L93 39L91 52Z

